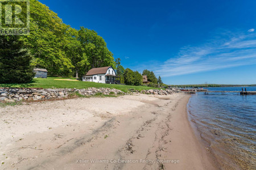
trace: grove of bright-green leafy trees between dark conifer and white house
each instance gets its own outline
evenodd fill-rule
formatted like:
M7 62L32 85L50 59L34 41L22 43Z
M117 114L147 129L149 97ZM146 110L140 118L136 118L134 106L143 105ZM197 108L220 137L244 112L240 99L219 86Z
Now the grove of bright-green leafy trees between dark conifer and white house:
M30 0L30 35L19 40L30 52L32 65L47 69L50 76L81 78L94 67L116 69L112 52L96 31L71 28L37 0Z

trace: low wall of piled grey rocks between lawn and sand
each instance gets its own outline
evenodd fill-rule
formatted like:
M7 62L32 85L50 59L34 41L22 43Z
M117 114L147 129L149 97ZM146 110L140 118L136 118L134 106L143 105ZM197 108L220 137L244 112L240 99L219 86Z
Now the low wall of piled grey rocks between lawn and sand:
M14 102L22 100L50 100L63 99L71 94L79 93L83 96L93 96L96 94L103 95L126 95L132 93L152 94L152 95L170 95L176 92L175 88L168 90L131 90L130 92L123 92L115 88L56 88L56 89L42 89L42 88L0 88L0 101Z

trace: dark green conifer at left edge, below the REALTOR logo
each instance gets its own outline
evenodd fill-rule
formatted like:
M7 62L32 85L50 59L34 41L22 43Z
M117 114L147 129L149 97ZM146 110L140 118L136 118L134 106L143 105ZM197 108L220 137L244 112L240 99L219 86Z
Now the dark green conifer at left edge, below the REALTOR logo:
M35 73L18 36L0 36L0 83L28 83Z

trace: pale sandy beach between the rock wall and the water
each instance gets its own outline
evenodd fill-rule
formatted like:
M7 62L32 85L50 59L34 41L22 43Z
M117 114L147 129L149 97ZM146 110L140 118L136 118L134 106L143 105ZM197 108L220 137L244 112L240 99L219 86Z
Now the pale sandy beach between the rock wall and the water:
M126 95L0 108L0 169L217 169L189 95Z

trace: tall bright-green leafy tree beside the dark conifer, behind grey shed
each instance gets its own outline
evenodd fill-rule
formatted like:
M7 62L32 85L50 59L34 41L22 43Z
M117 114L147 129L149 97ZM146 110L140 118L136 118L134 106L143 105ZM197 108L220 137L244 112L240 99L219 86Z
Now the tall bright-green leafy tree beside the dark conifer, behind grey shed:
M30 35L20 39L30 50L34 65L46 68L49 75L72 74L73 65L64 50L68 28L46 5L30 0Z

